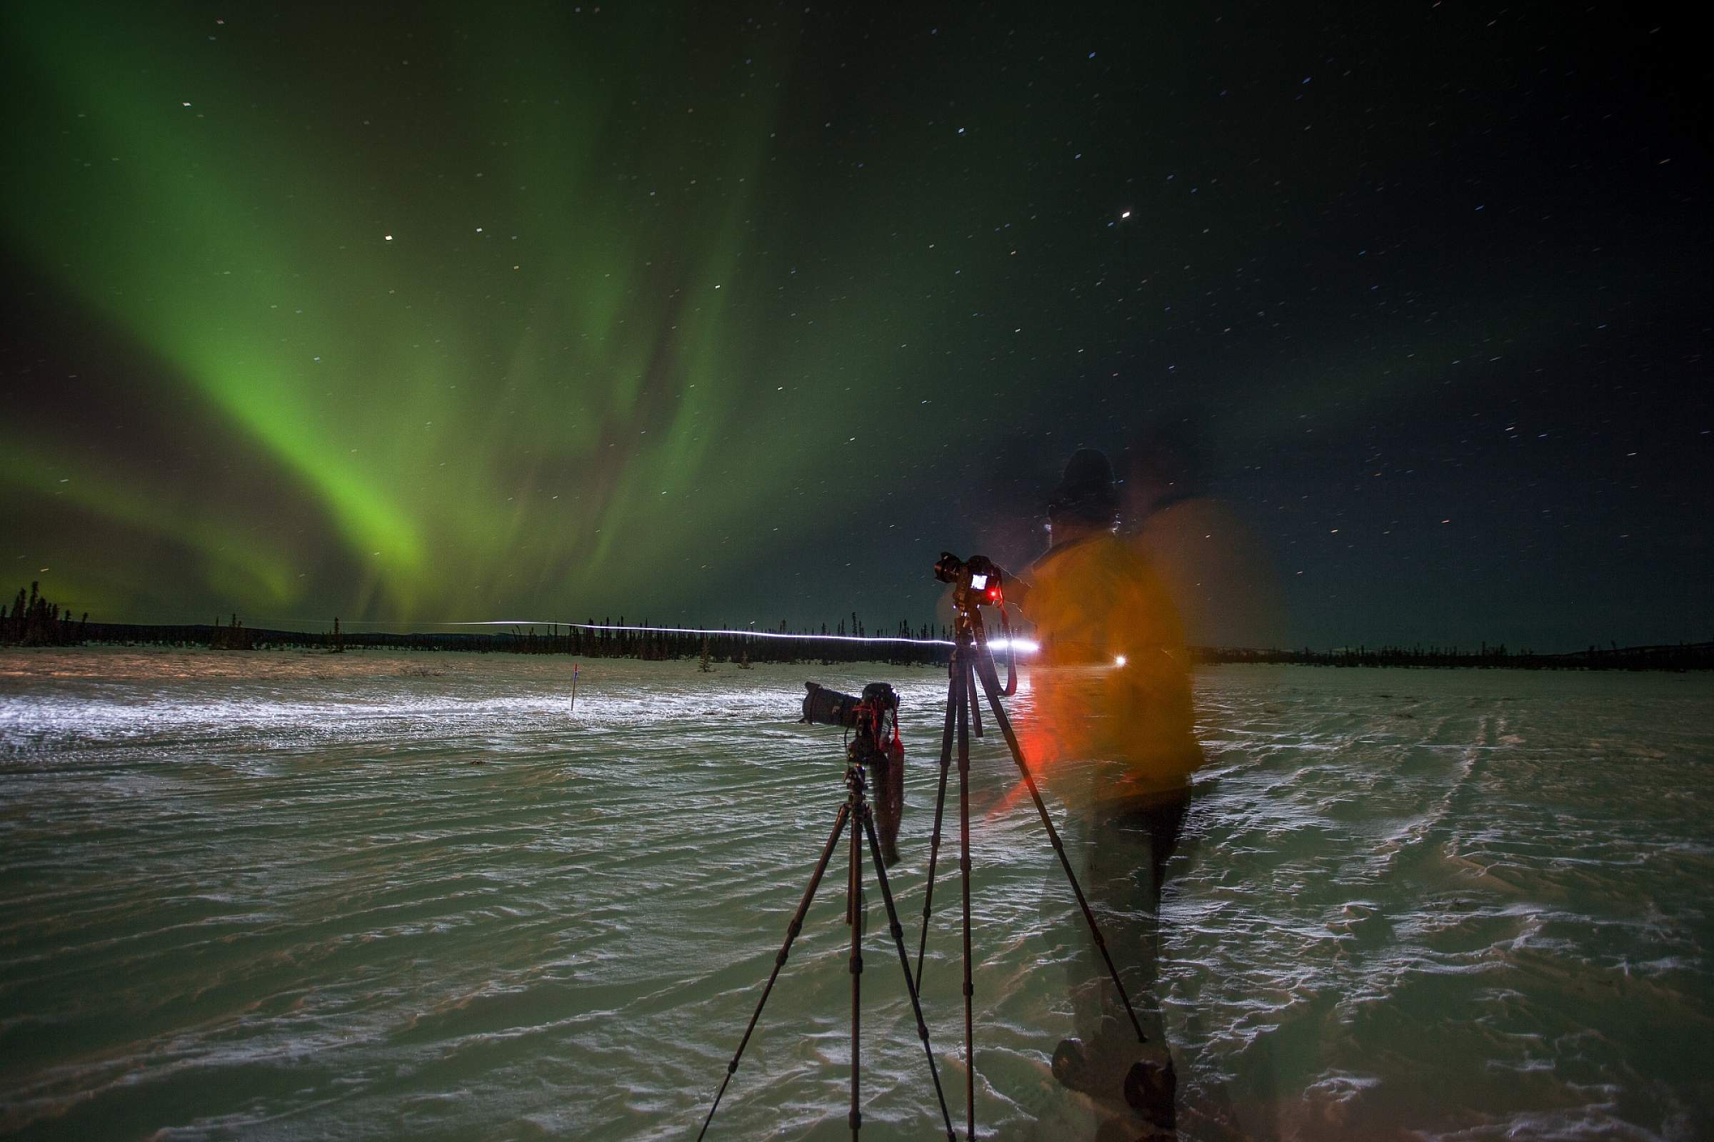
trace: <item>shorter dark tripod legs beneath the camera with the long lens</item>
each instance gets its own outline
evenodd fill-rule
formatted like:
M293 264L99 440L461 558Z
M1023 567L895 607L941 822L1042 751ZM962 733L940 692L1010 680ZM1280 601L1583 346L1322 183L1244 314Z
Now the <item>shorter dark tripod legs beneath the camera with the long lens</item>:
M845 803L840 805L840 815L833 822L833 832L828 836L828 844L821 849L821 859L816 861L816 871L809 877L809 889L804 892L804 899L797 904L797 913L792 916L792 923L785 928L785 943L780 945L780 954L773 957L773 971L768 972L768 986L763 988L761 998L756 1002L756 1010L751 1014L749 1027L744 1029L744 1038L739 1039L739 1050L732 1055L732 1062L727 1063L727 1077L720 1082L720 1092L715 1094L715 1104L708 1108L708 1118L703 1120L703 1130L698 1133L698 1142L708 1133L708 1123L715 1120L715 1111L720 1109L720 1097L727 1092L727 1084L732 1082L732 1074L739 1068L739 1060L744 1056L744 1048L749 1044L751 1034L756 1031L756 1020L761 1019L761 1008L768 1002L768 995L773 991L775 979L780 978L780 969L785 966L785 957L792 950L792 942L797 933L804 928L804 916L809 913L809 902L816 899L816 889L821 885L821 875L828 870L828 861L833 859L833 849L840 842L840 834L845 825L850 825L850 871L845 882L845 923L852 930L852 950L850 950L850 974L852 974L852 1108L847 1115L847 1121L852 1128L852 1142L857 1142L857 1132L862 1130L862 1109L859 1108L859 1026L860 1026L860 993L862 993L862 930L864 930L864 899L862 899L862 841L869 837L869 853L874 858L876 880L881 885L881 901L886 904L888 930L893 935L893 947L898 949L898 966L905 972L905 990L910 991L910 1010L917 1015L917 1038L922 1039L922 1053L929 1060L929 1074L934 1077L934 1097L941 1103L941 1120L946 1123L946 1142L955 1142L953 1120L946 1111L946 1094L941 1091L941 1072L934 1065L934 1051L929 1048L929 1024L922 1019L922 1003L917 1002L917 984L910 978L910 957L905 954L905 928L898 923L898 909L893 907L893 889L886 880L886 863L881 859L881 841L874 829L874 812L869 806L867 796L867 772L862 765L866 753L864 743L866 728L859 728L857 736L852 740L847 752L848 764L845 767ZM968 943L968 937L965 940Z

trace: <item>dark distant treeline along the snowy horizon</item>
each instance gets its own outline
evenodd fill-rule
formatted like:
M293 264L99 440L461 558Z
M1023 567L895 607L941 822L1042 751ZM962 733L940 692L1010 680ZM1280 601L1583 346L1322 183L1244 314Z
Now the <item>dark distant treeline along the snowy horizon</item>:
M543 628L545 627L545 628ZM778 637L792 635L792 637ZM494 632L350 632L339 620L322 632L273 630L245 627L233 615L213 623L93 623L87 611L72 616L70 608L50 603L31 584L19 591L14 604L0 610L0 644L9 645L175 645L223 651L307 649L345 652L357 649L466 651L478 654L571 654L579 657L632 657L641 661L701 659L704 663L891 663L936 664L951 657L951 632L944 627L912 628L900 623L886 633L871 633L854 613L831 628L742 632L732 628L660 628L650 622L617 623L519 623ZM905 642L908 640L908 642ZM939 642L936 642L939 640ZM1203 664L1279 664L1279 666L1417 666L1476 669L1714 669L1714 642L1680 642L1627 645L1615 642L1584 651L1541 654L1513 651L1505 644L1462 645L1347 645L1328 651L1313 647L1188 647L1195 663Z

